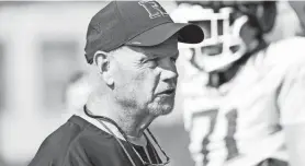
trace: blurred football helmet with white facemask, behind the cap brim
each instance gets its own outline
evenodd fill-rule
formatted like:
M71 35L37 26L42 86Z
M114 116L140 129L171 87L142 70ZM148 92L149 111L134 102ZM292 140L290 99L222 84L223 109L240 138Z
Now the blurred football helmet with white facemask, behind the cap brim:
M272 29L275 2L264 1L178 1L171 16L174 22L200 25L202 43L179 44L188 60L205 72L222 71L247 52L253 42ZM256 31L248 31L247 26ZM246 27L246 28L245 28Z

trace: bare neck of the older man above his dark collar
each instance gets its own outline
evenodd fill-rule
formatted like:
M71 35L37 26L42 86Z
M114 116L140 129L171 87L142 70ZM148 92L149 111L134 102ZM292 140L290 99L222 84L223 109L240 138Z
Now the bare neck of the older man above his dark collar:
M140 138L145 129L156 118L149 115L136 115L136 110L127 110L122 108L111 97L90 96L87 103L87 108L95 116L104 116L113 121L125 132L125 134L133 138Z

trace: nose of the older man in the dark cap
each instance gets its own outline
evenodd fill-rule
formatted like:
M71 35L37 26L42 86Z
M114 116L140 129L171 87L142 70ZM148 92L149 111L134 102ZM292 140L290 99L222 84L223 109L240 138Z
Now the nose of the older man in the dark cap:
M177 83L177 79L179 76L177 72L176 62L172 58L163 58L160 62L161 68L161 80L165 82Z

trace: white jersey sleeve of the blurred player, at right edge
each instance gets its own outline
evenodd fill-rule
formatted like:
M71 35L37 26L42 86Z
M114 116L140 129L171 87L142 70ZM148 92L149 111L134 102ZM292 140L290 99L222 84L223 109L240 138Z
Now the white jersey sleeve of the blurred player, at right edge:
M305 43L303 44L305 46ZM282 124L303 123L305 122L305 49L297 45L286 46L286 48L290 49L286 58L291 58L283 67L286 69L279 88L280 122Z

